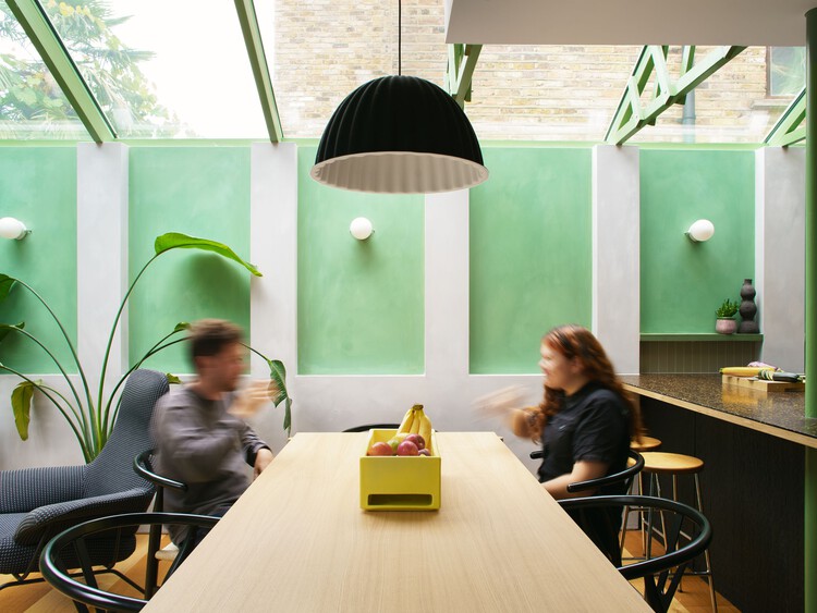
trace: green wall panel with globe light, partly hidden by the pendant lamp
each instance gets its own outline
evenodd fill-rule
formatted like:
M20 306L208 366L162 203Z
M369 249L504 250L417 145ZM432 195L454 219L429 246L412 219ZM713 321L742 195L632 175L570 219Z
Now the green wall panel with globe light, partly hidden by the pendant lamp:
M424 371L424 196L332 189L298 148L297 335L301 375ZM375 234L349 233L366 217Z

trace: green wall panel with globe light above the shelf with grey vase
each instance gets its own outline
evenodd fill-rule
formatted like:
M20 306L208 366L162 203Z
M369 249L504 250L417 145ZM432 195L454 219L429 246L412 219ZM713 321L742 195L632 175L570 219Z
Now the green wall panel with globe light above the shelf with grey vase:
M714 332L715 309L754 277L754 152L643 150L641 216L642 333ZM692 243L702 218L715 235Z

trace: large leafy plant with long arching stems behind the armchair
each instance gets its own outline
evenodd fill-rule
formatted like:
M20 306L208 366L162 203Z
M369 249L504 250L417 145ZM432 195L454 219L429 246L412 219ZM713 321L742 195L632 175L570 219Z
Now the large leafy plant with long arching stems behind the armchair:
M138 280L145 273L147 268L156 260L156 258L173 249L200 249L205 252L211 252L240 263L256 277L261 275L257 268L255 268L252 263L248 263L241 259L230 247L221 243L209 241L207 238L196 238L194 236L187 236L185 234L179 234L174 232L158 236L154 244L154 256L142 268L139 273L131 283L131 286L127 289L127 292L122 298L122 303L119 306L117 316L113 319L111 332L108 338L108 344L102 357L102 371L99 378L99 389L96 390L96 394L93 394L90 388L88 387L85 371L83 370L83 366L80 363L80 358L76 354L76 350L74 348L74 344L71 342L71 338L63 328L60 319L57 317L53 310L51 310L51 307L48 306L46 301L31 285L26 284L20 279L0 273L0 303L2 303L9 296L9 293L15 285L25 287L28 292L31 292L42 304L42 306L48 310L53 320L57 322L57 326L62 332L62 336L71 352L71 356L76 364L78 373L78 382L74 383L74 381L72 381L72 377L69 376L63 365L60 364L60 360L54 356L53 352L51 352L42 341L40 341L37 336L25 329L25 322L15 324L0 323L0 343L2 343L2 341L12 333L21 334L29 341L36 343L57 365L57 368L64 378L68 388L68 392L61 393L53 387L48 385L40 380L35 381L26 375L17 371L12 366L0 363L0 371L11 372L12 375L16 375L17 377L23 379L23 381L19 385L16 385L11 393L11 406L14 412L14 422L17 429L17 433L20 434L20 438L22 440L26 440L28 438L32 400L34 397L34 392L37 391L40 392L48 401L50 401L50 403L57 407L60 414L62 414L62 416L69 422L71 429L74 432L74 436L76 437L76 440L80 443L80 446L82 448L85 461L90 462L97 455L99 455L99 452L108 441L108 437L110 436L111 429L113 428L113 422L117 419L119 403L121 401L119 391L127 379L127 376L139 368L142 364L149 357L156 355L157 353L166 350L171 345L181 343L186 339L185 332L190 328L190 326L185 322L178 323L172 331L170 331L157 343L155 343L145 353L145 355L143 355L136 361L136 364L131 367L127 372L122 375L112 390L106 390L105 380L106 371L108 369L108 358L110 356L113 338L117 333L117 328L119 327L122 311L124 310L125 304L127 303L127 298L133 293L133 290ZM290 409L292 406L292 399L290 399L286 392L286 370L283 363L277 359L269 359L267 356L254 350L253 347L248 345L245 346L249 351L261 357L269 366L270 379L275 383L273 387L278 390L275 395L270 397L270 400L276 406L278 406L282 402L284 403L283 428L284 430L289 431L291 427ZM171 383L180 382L179 379L171 373L168 373L167 377Z

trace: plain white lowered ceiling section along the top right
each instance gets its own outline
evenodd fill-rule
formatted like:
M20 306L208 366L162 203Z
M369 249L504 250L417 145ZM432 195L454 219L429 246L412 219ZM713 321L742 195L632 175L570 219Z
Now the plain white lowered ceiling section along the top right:
M446 41L802 46L817 0L444 0Z

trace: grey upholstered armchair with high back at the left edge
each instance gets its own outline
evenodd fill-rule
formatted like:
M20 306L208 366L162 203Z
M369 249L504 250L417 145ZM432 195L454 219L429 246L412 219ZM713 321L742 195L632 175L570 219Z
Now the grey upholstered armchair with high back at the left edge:
M156 401L167 391L163 373L135 370L122 392L108 443L90 464L0 473L0 574L15 579L0 589L41 581L28 575L38 569L48 540L65 528L94 517L147 510L154 486L133 471L133 458L154 445L150 417ZM96 544L90 557L120 575L113 565L134 551L135 531Z

